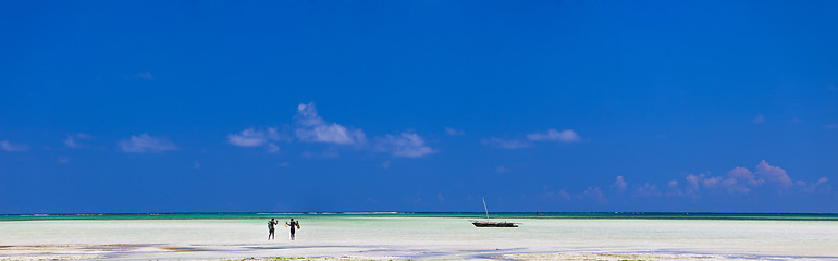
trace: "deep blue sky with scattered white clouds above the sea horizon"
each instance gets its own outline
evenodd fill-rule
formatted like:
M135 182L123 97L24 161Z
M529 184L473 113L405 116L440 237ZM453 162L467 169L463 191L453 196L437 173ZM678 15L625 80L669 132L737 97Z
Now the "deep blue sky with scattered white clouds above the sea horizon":
M835 1L0 8L0 213L838 212Z

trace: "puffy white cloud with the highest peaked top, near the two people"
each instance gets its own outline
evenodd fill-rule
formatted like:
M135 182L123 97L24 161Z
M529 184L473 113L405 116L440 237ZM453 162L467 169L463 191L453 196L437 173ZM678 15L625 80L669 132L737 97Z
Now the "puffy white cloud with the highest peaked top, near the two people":
M306 142L324 142L337 145L359 145L367 141L361 129L348 129L337 123L328 123L317 114L313 102L297 105L297 122L295 134Z

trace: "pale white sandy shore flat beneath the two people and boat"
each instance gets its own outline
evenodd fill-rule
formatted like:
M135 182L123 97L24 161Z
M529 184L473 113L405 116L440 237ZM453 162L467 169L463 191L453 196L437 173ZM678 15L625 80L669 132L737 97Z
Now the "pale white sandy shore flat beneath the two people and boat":
M297 240L267 220L0 222L0 260L838 260L838 222L520 220L476 228L466 219L312 217Z

